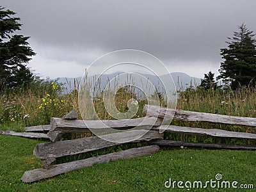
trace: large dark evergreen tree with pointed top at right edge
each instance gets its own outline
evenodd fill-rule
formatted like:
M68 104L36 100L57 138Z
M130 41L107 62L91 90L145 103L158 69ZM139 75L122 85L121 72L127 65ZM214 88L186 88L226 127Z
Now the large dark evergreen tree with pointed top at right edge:
M256 45L255 34L246 28L245 24L238 27L232 38L228 38L228 48L221 49L223 62L220 66L220 76L223 82L231 83L231 88L239 86L255 86L256 82Z

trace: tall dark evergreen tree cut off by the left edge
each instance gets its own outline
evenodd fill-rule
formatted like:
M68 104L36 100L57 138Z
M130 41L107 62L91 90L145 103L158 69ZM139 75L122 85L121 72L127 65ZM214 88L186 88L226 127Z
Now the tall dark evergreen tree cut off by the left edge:
M13 35L20 30L15 12L0 6L0 90L28 86L33 73L26 67L35 52L28 46L29 36Z

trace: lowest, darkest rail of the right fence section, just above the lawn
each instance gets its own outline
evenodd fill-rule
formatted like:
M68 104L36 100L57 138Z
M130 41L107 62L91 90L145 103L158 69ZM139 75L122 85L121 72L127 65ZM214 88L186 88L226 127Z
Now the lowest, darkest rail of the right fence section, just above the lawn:
M215 143L188 143L184 141L170 141L170 140L155 140L148 141L150 145L159 145L162 147L195 147L195 148L223 148L234 150L256 150L256 146L250 145L227 145Z

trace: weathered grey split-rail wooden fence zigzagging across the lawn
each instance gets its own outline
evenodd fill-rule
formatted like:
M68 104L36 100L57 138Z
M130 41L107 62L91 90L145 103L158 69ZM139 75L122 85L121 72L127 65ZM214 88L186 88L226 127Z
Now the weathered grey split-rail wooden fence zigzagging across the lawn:
M72 112L74 113L74 111ZM185 133L216 136L221 138L242 138L256 140L256 134L247 132L232 132L220 129L202 129L191 127L179 127L174 125L163 125L163 118L170 117L183 121L200 121L212 122L220 124L245 125L256 127L256 118L217 115L210 113L198 113L194 111L173 110L166 108L159 108L158 106L148 106L143 108L143 118L129 119L129 120L76 120L75 118L51 118L51 125L40 125L35 127L28 127L25 130L28 132L49 131L47 137L52 141L51 143L40 143L34 149L34 156L42 160L44 168L24 172L22 176L23 182L34 182L36 180L54 177L61 173L70 172L78 168L92 166L97 163L105 163L110 160L124 159L131 157L145 156L159 150L159 146L170 147L204 147L204 148L228 148L228 149L247 149L255 150L255 145L224 145L215 143L188 143L183 141L169 141L163 140L163 133L159 133L159 129L165 129L166 132L171 133ZM106 126L102 126L105 124ZM132 130L132 127L152 127L150 131L145 133L143 129ZM90 130L97 130L106 132L110 128L127 130L124 132L116 132L105 134L101 138L92 136L88 138L80 138L76 140L63 140L63 135L70 132L90 132ZM161 127L161 128L160 128ZM90 129L89 129L90 128ZM131 130L130 130L131 129ZM140 137L141 135L141 137ZM138 139L132 140L134 136ZM124 143L147 141L150 145L147 147L131 148L121 152L114 152L99 157L90 157L79 161L72 161L63 164L54 164L56 158L71 156L76 154L83 154L85 152L92 152L106 147L113 147L120 145L118 142L111 142L111 139L124 139Z

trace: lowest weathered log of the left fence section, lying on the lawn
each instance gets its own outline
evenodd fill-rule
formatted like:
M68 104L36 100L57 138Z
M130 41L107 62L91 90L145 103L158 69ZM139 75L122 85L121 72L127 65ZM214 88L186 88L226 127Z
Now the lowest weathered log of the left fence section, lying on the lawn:
M23 182L34 182L36 180L54 177L62 173L67 173L73 170L85 168L88 166L93 166L93 164L108 163L109 161L113 161L116 159L129 159L132 157L141 157L141 156L155 153L158 150L159 150L159 147L157 145L152 145L147 147L131 148L131 149L123 150L120 152L107 154L104 156L90 157L88 159L72 161L70 163L56 164L56 165L50 166L47 169L40 168L40 169L24 172L21 180Z

